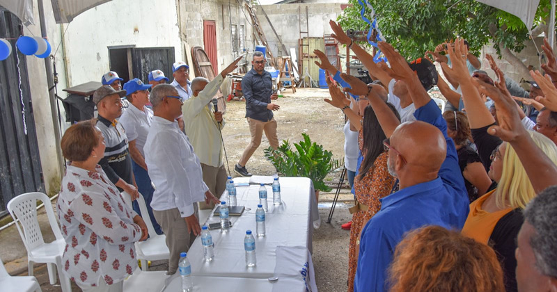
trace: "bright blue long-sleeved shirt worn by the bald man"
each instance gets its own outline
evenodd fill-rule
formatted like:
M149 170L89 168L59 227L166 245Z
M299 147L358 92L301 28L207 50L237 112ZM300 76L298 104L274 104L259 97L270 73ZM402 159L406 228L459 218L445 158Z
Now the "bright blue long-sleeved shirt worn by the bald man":
M396 245L409 231L426 225L462 229L469 212L453 140L447 136L447 124L439 107L431 100L417 108L416 120L433 124L445 136L446 159L439 177L403 188L381 199L381 210L363 227L354 291L389 291L388 268Z

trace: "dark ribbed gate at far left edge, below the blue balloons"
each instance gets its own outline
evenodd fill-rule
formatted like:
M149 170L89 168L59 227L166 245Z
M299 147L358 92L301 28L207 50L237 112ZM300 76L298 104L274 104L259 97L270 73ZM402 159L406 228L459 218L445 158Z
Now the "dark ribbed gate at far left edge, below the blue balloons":
M0 217L13 197L45 193L26 64L36 57L15 49L22 33L19 18L0 6L0 38L12 45L12 54L0 62Z

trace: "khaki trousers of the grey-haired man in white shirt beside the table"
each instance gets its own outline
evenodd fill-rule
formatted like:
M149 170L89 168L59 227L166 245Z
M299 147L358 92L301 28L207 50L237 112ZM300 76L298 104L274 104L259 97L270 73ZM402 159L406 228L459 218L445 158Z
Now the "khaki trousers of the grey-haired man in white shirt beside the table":
M180 216L178 208L168 209L164 211L152 211L155 219L161 225L162 232L166 236L166 246L170 251L168 259L168 274L174 275L178 270L178 261L180 261L180 253L187 252L189 246L194 243L196 236L193 232L188 232L185 218ZM194 214L199 220L197 203L194 203Z

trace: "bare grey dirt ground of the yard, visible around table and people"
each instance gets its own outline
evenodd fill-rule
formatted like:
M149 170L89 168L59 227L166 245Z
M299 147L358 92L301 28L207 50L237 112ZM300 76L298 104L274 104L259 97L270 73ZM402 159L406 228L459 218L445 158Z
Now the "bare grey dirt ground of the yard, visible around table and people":
M278 122L278 140L289 139L290 142L301 140L301 133L308 133L312 141L324 146L334 154L334 159L343 159L343 114L329 104L323 102L329 97L328 90L315 88L300 88L295 95L292 90L283 92L284 98L279 98L276 103L281 106L275 112ZM242 156L242 152L250 140L248 124L245 119L244 102L229 102L227 104L226 127L223 129L223 140L226 145L228 161L232 170L235 163ZM263 149L269 147L267 138L263 136L260 147L253 154L246 168L256 175L272 175L274 167L265 160ZM336 184L340 172L331 173L326 181ZM347 191L347 190L345 190ZM352 195L341 195L340 201L350 200ZM320 229L313 233L313 266L317 288L322 292L338 292L346 290L348 243L350 232L340 229L340 225L350 220L350 213L345 204L337 205L331 224L327 224L330 202L333 195L320 195L320 216L322 224ZM54 204L52 205L54 208ZM45 209L38 211L40 226L43 230L45 242L52 241L54 235L49 230L45 220ZM8 227L0 232L0 258L6 265L11 275L27 275L26 251L19 238L15 226ZM166 270L166 261L153 262L151 270ZM61 291L60 286L49 284L45 265L37 264L35 275L41 285L42 291ZM72 285L73 291L80 289Z

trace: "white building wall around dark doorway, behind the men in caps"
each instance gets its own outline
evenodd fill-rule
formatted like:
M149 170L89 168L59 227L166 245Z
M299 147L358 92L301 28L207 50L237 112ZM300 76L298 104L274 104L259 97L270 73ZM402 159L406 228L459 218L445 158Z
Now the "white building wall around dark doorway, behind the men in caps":
M175 0L103 3L70 22L64 44L69 86L100 82L109 71L109 46L174 47L175 60L183 56Z

